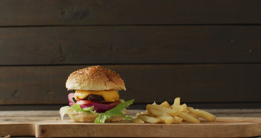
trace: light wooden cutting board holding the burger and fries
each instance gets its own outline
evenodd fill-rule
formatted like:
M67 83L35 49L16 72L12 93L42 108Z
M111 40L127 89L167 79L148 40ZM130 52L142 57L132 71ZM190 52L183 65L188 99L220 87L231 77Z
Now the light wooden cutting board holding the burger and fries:
M131 120L105 124L45 120L0 123L0 135L36 137L252 137L261 135L261 118L221 117L201 124L135 124Z

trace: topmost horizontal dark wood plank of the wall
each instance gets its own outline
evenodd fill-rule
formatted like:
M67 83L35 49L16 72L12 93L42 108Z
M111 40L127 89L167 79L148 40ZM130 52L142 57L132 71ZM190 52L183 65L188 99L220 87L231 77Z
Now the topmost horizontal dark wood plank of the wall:
M2 0L0 26L260 24L258 0Z

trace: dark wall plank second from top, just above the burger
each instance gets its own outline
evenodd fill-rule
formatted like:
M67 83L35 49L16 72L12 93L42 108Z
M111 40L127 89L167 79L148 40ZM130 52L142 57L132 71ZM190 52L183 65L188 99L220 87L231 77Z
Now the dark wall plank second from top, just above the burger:
M261 62L261 26L0 28L0 65Z

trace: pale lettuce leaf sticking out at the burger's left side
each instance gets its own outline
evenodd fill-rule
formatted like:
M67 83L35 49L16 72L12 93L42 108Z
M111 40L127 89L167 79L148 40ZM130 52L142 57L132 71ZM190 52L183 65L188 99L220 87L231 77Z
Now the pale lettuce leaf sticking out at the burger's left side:
M60 108L60 115L61 115L61 118L62 118L62 120L63 120L63 116L64 116L65 114L68 114L68 110L69 110L69 109L73 109L73 110L75 110L75 111L77 111L77 112L90 112L90 113L95 113L96 111L92 111L93 107L94 107L94 106L88 107L88 108L87 108L87 107L86 107L86 108L81 108L80 105L78 105L78 104L74 104L73 106L64 106L64 107Z

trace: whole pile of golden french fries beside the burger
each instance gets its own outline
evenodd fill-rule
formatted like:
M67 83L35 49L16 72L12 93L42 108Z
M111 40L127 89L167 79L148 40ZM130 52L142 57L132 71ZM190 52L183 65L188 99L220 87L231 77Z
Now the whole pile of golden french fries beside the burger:
M167 101L157 105L148 104L146 111L137 113L135 119L132 119L133 123L181 123L182 120L200 124L199 117L207 119L209 121L215 121L216 116L203 110L187 107L186 104L180 105L180 97L176 98L173 105L169 105Z

